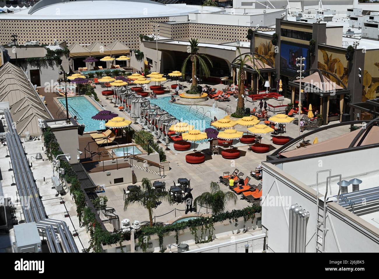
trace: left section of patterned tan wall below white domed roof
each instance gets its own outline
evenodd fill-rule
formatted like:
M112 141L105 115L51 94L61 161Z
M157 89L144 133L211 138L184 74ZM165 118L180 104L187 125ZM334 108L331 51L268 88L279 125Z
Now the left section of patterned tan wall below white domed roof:
M95 41L110 44L115 39L132 49L138 49L140 34L153 32L152 20L165 22L169 17L134 19L93 19L93 20L0 20L0 45L11 41L17 34L19 44L39 41L52 44L54 40L72 43L92 44Z

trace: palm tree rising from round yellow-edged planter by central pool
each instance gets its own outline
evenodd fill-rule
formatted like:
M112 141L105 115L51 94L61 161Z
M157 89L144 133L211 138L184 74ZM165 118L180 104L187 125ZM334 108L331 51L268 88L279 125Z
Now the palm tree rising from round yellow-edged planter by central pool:
M186 72L186 67L188 60L191 60L192 63L192 85L191 85L191 91L193 93L199 93L197 92L197 80L196 80L196 63L199 63L200 71L204 74L205 77L209 77L210 71L208 68L208 65L206 61L209 62L211 66L213 66L212 61L209 59L209 57L205 54L199 53L200 47L199 47L199 40L191 38L189 39L189 55L188 57L183 61L182 65L182 74L184 77L184 74Z

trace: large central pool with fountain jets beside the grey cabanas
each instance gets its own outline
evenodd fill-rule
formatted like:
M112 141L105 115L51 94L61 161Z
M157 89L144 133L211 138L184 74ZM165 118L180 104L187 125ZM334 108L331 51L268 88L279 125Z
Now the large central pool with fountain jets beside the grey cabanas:
M194 125L195 129L200 131L210 128L210 123L214 116L221 119L226 115L224 110L218 108L199 105L193 105L191 107L180 104L172 104L169 102L170 99L171 97L168 96L157 99L149 99L149 101L152 104L156 104L161 109L166 110L166 112L175 116L181 122L187 122L189 125Z

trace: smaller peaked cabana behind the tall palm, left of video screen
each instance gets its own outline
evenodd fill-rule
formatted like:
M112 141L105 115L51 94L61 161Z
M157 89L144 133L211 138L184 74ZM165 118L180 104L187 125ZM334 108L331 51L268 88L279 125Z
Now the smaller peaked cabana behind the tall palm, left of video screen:
M258 80L259 75L261 75L263 79L268 80L271 86L273 84L271 80L271 74L275 73L276 69L274 65L263 55L260 55L255 52L253 52L252 54L250 52L243 53L240 56L236 57L232 61L232 63L230 63L230 66L232 66L234 84L238 84L237 69L240 68L240 64L237 63L237 59L240 57L245 57L245 55L250 55L250 57L256 58L255 60L253 60L253 63L251 61L247 61L243 69L246 72L245 85L250 84L251 88L254 89L253 94L258 94L260 90L259 86L261 85L262 87L263 85L263 84L259 84L259 80Z

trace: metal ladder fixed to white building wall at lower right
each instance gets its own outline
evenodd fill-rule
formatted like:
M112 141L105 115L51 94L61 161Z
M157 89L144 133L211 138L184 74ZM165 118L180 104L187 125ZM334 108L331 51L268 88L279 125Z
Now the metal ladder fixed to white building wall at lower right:
M318 197L319 196L318 174L323 173L323 172L329 172L329 176L326 178L326 190L325 190L325 195L324 195L324 203L323 203L323 206L320 206L320 204L319 204L320 199ZM325 251L324 239L325 239L326 232L329 230L326 227L326 209L327 209L326 199L327 199L327 195L328 195L328 188L330 188L330 195L332 194L332 188L330 186L330 181L332 178L338 177L338 178L340 178L340 182L341 182L341 178L342 178L342 175L333 175L332 176L331 174L332 174L331 169L319 170L316 172L316 192L317 192L317 197L316 197L316 236L315 236L315 252L316 253L326 252ZM340 193L340 191L338 191L338 194L339 193ZM322 213L320 213L320 211ZM322 219L322 221L321 221L321 219Z

